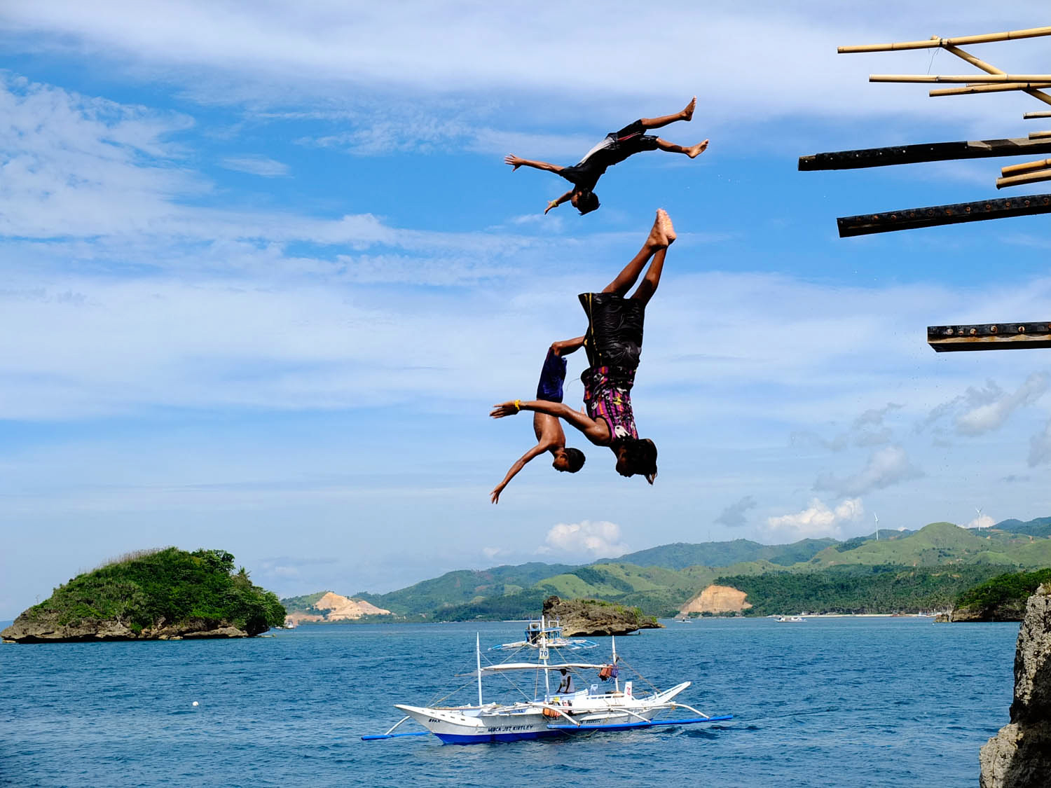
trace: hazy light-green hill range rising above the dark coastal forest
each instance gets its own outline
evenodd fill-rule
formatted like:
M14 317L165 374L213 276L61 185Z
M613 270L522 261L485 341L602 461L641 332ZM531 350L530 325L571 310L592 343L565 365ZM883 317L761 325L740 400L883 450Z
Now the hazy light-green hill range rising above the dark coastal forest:
M585 565L531 562L481 571L458 569L388 594L362 593L353 597L390 610L403 620L524 618L535 616L543 599L551 595L602 599L638 606L651 615L671 616L717 578L806 574L811 578L807 582L817 587L819 575L820 583L834 585L840 580L827 573L853 572L851 567L859 571L867 567L864 571L870 574L926 567L933 572L931 577L943 578L944 572L937 567L972 566L975 568L966 576L980 582L1004 572L1051 566L1051 539L1039 535L1051 526L1051 517L1029 522L1006 520L1003 524L1004 528L996 525L977 531L936 522L920 531L881 530L879 539L873 532L842 542L830 538L775 545L748 539L679 542ZM1048 534L1051 535L1051 527ZM949 584L943 585L948 594ZM749 583L749 586L754 593L770 589L772 594L776 584ZM800 589L799 583L792 587L797 595L805 590ZM900 584L891 583L890 587L898 588ZM886 597L885 592L880 593ZM919 599L915 595L908 598ZM891 604L888 599L884 602ZM753 601L749 599L749 603ZM765 608L758 604L758 609Z

